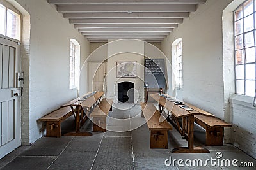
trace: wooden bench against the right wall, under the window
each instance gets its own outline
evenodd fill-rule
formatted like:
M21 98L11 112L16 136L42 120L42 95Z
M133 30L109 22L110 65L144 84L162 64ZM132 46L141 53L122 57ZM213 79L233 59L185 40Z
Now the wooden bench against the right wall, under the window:
M195 122L206 130L207 146L223 145L224 127L232 126L219 118L205 115L195 115Z

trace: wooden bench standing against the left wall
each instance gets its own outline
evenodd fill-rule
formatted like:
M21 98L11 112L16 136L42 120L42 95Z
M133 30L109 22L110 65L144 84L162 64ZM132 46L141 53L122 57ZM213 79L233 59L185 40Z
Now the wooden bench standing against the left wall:
M40 118L46 122L46 136L47 137L61 137L61 122L66 118L73 115L72 109L70 107L60 108L58 110L52 111L48 115Z

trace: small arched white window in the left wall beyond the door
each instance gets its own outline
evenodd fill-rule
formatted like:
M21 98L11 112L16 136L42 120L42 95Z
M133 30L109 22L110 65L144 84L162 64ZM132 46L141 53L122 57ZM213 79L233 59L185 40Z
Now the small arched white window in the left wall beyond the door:
M69 55L69 88L79 87L80 75L80 45L76 39L70 39Z

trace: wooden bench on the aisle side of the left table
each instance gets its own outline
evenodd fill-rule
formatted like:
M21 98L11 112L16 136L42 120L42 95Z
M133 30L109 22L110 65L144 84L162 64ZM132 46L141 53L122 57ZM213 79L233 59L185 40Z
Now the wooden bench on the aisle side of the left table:
M106 132L106 117L109 111L112 111L113 99L102 99L97 107L94 108L90 117L93 118L93 132Z

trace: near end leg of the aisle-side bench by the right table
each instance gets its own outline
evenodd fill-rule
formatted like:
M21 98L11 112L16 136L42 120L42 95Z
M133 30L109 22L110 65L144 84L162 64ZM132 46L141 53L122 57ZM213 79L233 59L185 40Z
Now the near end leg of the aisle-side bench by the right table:
M167 131L150 131L150 148L168 148Z

